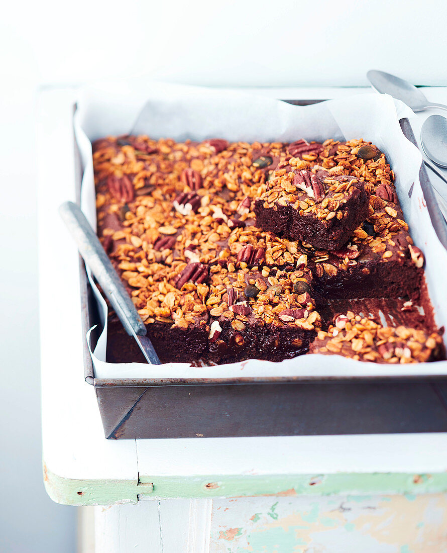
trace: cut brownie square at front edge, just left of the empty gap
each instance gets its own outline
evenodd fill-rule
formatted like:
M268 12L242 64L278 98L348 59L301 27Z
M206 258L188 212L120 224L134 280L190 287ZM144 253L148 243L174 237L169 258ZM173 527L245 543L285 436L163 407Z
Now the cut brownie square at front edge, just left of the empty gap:
M280 361L306 353L320 325L311 280L303 271L212 267L209 359Z

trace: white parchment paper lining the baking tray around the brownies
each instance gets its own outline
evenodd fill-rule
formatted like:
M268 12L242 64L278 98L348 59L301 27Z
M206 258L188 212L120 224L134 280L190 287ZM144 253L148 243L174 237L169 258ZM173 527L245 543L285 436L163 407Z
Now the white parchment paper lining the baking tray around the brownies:
M299 138L319 141L326 138L371 140L386 154L395 171L396 189L411 235L425 254L425 274L437 324L447 326L447 252L434 232L420 189L422 158L399 126L399 119L414 116L402 102L371 93L302 107L243 92L144 81L122 81L85 88L80 91L74 125L84 169L81 207L93 228L96 228L96 206L91 142L107 135L130 132L143 106L146 123L144 128L136 130L152 138L203 140L219 137L247 142L292 142ZM91 352L97 378L447 373L447 361L396 366L318 354L286 359L280 363L251 359L217 367L190 367L187 363L159 366L106 363L107 306L92 281L91 284L103 325L101 337ZM87 340L90 344L90 332Z

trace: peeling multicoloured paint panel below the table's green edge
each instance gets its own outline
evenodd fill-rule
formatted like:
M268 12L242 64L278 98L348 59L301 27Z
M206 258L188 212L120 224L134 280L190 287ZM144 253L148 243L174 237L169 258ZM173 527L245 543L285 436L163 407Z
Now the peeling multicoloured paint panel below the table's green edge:
M213 553L447 553L447 494L214 499Z

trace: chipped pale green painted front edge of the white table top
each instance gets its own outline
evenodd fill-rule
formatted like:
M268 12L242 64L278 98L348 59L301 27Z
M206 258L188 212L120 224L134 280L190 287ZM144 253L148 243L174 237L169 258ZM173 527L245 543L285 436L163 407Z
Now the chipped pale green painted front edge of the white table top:
M336 473L325 474L320 484L311 485L312 474L211 475L189 477L141 475L154 484L153 492L138 486L135 480L77 480L63 478L44 467L45 488L51 499L66 505L115 505L136 503L137 495L145 498L253 497L279 495L348 495L355 496L447 492L447 472L416 479L407 473ZM143 480L144 479L144 480ZM216 485L214 485L216 484ZM314 516L314 515L312 515Z

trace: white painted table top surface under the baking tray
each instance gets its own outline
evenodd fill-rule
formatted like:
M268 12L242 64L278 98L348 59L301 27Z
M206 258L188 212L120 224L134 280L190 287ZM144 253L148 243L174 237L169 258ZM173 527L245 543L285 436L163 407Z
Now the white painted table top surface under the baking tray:
M370 89L256 91L282 98L328 98ZM447 103L447 88L427 88L425 92L429 100ZM75 199L71 126L75 100L75 90L43 92L38 117L43 461L52 497L64 501L55 489L62 486L61 481L136 482L138 474L187 478L447 471L447 433L104 439L94 389L83 379L77 251L57 214L62 202ZM427 114L420 120L424 117ZM58 483L54 480L51 484L51 478Z

